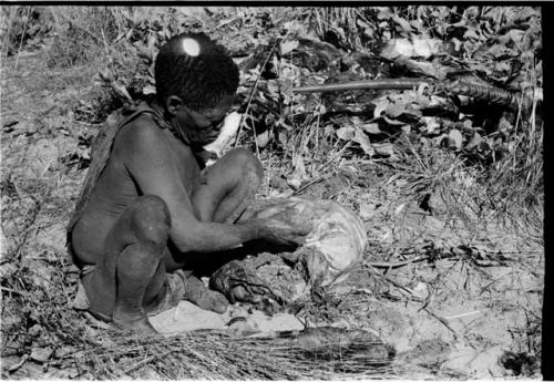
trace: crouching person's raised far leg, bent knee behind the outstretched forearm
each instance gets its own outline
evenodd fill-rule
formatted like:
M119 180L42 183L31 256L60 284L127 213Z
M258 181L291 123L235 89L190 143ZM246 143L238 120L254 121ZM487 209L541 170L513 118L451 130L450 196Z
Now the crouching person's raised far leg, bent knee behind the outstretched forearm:
M264 177L259 161L244 148L225 154L204 173L192 202L204 221L233 224L254 199Z

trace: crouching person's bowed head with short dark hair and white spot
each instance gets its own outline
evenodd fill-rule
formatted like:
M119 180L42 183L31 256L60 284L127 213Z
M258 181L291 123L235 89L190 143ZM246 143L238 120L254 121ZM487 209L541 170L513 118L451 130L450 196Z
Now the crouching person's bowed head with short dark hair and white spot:
M215 140L238 87L238 69L225 48L204 33L167 41L155 62L157 99L193 144Z

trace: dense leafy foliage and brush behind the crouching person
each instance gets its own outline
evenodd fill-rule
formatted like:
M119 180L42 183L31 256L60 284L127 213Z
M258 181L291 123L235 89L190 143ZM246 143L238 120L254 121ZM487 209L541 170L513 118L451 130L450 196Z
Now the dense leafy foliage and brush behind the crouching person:
M155 92L154 59L172 35L209 31L240 69L237 103L244 113L237 143L258 155L290 158L288 185L319 176L314 153L400 158L399 138L452 152L474 167L490 205L542 207L541 14L531 7L371 8L44 8L9 9L10 30L24 44L52 30L53 68L96 62L100 86L75 112L102 121L111 111ZM22 13L32 17L27 19ZM4 10L7 12L7 10ZM19 13L18 13L19 12ZM28 22L27 32L24 20ZM23 25L23 27L22 27ZM40 28L39 28L40 27ZM40 33L38 32L40 31ZM27 33L27 34L25 34ZM34 34L33 34L34 33ZM295 86L409 76L417 89L294 93ZM521 107L491 96L438 86L519 92ZM519 192L507 185L520 184ZM538 195L538 197L536 197ZM420 197L423 197L421 195ZM536 216L536 214L535 214ZM533 223L538 225L540 221Z

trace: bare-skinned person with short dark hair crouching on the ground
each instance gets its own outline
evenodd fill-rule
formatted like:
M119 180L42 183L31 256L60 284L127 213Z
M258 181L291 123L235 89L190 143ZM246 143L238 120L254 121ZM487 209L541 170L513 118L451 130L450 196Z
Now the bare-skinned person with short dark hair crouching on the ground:
M224 48L205 34L174 37L160 50L155 80L157 102L120 113L93 147L68 230L82 269L81 308L144 333L155 332L147 313L179 299L225 311L223 295L183 272L193 257L211 261L211 252L248 240L278 241L276 230L307 234L277 224L287 221L286 209L234 224L263 179L249 152L233 149L203 168L198 152L218 135L238 86Z

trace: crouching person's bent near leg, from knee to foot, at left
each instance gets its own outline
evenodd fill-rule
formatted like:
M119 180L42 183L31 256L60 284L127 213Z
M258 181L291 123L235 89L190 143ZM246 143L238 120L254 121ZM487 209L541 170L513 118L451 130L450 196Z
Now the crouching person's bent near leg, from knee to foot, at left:
M161 260L170 227L170 211L157 196L142 196L125 209L107 235L95 271L83 278L93 312L111 316L121 329L155 332L144 307L165 291Z

